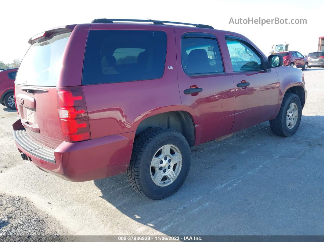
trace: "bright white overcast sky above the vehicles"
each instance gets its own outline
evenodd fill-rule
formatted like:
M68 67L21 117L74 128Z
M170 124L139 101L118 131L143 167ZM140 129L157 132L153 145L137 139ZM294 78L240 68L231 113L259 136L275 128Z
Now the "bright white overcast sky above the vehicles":
M0 61L22 59L30 37L55 26L90 23L96 18L155 19L211 25L240 33L265 55L271 46L289 43L289 50L317 51L324 36L323 0L294 1L6 1L0 5ZM233 19L306 19L307 24L230 24Z

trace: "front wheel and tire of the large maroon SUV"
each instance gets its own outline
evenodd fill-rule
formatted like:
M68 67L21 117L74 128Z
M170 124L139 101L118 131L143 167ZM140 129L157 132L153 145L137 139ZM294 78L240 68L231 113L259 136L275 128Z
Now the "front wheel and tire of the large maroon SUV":
M298 110L294 109L297 112L292 111L292 113L298 114L297 118L295 118L296 116L295 114L293 116L290 116L290 119L295 120L294 126L292 125L292 123L287 124L287 117L289 122L288 115L292 115L292 113L288 114L290 112L288 108L294 106L293 103L295 103L298 109ZM277 117L273 120L270 120L271 131L275 135L282 136L282 137L292 136L299 127L301 117L302 117L302 104L300 102L299 97L293 93L286 93L284 95L284 100L281 104L281 108L279 110Z

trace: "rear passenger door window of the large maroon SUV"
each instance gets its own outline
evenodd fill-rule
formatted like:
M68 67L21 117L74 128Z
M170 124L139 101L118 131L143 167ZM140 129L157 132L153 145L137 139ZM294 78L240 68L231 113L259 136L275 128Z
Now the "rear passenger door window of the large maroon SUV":
M182 68L187 74L223 72L223 62L215 38L183 37Z

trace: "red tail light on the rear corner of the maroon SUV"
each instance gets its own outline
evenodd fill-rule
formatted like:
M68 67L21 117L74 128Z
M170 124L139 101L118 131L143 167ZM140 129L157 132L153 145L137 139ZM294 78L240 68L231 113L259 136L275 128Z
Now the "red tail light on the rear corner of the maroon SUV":
M90 139L90 127L81 86L57 88L58 114L63 140L76 142Z

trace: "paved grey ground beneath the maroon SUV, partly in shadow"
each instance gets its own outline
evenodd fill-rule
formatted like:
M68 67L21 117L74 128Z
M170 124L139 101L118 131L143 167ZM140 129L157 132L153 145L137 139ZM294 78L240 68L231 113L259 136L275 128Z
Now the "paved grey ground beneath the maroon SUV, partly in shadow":
M324 69L304 74L308 98L293 137L274 136L265 122L194 147L186 183L161 201L136 194L125 175L71 183L22 161L11 134L17 113L1 106L0 191L26 197L57 234L324 235Z

